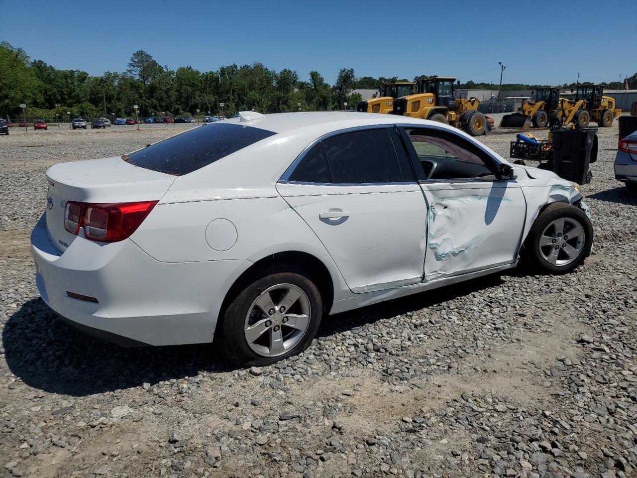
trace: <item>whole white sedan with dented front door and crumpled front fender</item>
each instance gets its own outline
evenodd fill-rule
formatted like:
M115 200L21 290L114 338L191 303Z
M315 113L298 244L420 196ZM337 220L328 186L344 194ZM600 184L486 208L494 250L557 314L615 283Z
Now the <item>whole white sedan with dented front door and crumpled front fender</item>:
M577 185L394 115L243 112L47 180L31 245L55 312L121 344L215 338L243 365L520 256L570 272L593 241Z

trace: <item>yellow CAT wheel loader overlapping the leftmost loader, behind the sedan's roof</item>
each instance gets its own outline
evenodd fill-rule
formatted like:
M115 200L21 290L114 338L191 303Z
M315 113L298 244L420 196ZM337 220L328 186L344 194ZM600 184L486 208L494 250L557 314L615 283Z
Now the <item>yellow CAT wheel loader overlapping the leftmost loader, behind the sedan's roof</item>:
M454 98L454 83L450 76L421 76L417 93L396 98L392 113L450 124L471 136L485 134L487 117L478 111L478 99Z

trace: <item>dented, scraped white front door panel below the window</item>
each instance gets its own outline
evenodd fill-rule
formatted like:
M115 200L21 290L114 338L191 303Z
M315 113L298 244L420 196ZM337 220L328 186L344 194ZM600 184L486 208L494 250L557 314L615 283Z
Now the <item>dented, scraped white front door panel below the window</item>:
M427 199L425 280L512 263L526 214L512 182L422 184Z

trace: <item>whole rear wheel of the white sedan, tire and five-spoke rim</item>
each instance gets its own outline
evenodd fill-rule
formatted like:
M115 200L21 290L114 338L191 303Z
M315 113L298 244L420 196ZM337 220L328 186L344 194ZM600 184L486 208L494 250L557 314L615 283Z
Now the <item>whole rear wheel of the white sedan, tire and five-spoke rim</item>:
M299 354L316 335L322 311L318 288L308 277L296 272L261 275L236 294L220 319L223 352L243 366Z

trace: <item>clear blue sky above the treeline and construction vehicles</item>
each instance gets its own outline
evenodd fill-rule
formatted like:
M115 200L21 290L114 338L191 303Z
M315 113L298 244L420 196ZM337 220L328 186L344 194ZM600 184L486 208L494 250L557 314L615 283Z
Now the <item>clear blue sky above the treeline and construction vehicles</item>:
M450 75L463 82L622 81L637 71L637 2L0 0L0 40L91 75L146 50L201 71L260 61L301 80ZM527 21L531 20L531 21Z

